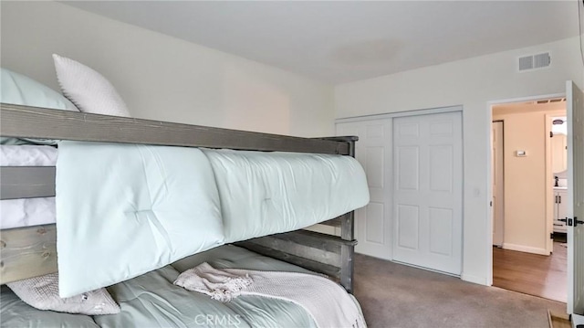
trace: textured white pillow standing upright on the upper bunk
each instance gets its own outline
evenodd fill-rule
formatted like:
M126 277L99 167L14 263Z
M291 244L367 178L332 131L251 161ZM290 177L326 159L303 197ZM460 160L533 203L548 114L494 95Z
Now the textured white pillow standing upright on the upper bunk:
M73 59L55 54L53 59L61 91L80 111L130 117L126 103L108 79Z

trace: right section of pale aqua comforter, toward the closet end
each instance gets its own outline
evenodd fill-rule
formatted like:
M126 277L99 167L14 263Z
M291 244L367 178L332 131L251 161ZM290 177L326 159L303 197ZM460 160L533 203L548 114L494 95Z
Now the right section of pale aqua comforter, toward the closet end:
M225 242L309 227L369 203L349 156L203 149L221 196Z

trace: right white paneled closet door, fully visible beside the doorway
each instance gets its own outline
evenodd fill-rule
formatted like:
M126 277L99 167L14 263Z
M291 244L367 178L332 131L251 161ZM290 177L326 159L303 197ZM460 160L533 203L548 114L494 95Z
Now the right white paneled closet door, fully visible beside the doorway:
M393 259L462 270L461 112L393 120Z

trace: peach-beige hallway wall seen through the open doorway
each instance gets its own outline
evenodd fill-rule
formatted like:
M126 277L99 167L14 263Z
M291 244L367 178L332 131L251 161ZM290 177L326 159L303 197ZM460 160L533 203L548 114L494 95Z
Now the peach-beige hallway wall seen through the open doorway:
M547 173L551 163L546 156L547 131L551 124L546 115L561 116L565 112L564 102L494 106L493 120L504 122L504 249L549 255L553 183L551 173ZM517 150L526 151L527 156L517 157Z

